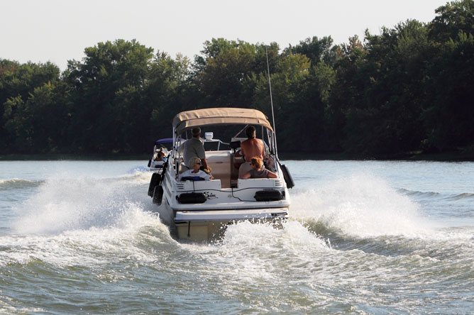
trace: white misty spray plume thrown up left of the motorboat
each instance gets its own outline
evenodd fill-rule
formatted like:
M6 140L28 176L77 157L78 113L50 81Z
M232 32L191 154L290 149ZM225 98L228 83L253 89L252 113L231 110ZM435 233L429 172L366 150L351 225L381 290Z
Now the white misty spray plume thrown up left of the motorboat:
M112 178L68 177L46 180L38 193L18 207L13 231L19 234L62 233L120 226L130 211L147 209L137 198L146 180L143 172Z

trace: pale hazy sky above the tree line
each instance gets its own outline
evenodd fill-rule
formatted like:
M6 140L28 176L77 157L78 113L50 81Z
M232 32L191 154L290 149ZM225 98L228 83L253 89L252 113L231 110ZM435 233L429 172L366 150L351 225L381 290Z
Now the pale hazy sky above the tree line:
M193 59L211 38L280 48L312 36L334 43L379 34L401 21L429 22L445 0L221 1L221 0L6 0L0 19L0 57L18 62L82 60L84 48L106 40L143 45Z

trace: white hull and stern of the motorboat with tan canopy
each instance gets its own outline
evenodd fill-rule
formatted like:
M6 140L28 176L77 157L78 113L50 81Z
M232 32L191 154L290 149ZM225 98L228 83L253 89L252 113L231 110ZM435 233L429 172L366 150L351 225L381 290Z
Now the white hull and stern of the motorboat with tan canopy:
M177 181L173 160L167 165L161 183L162 206L158 211L160 218L176 231L178 238L202 241L220 236L223 226L236 221L280 221L287 218L290 196L279 167L276 179L232 181L231 151L213 151L206 154L216 177L210 181ZM228 172L225 172L226 169ZM275 194L279 192L282 198L277 201L257 201L255 193L262 191ZM199 194L205 201L182 203L180 199L183 194Z

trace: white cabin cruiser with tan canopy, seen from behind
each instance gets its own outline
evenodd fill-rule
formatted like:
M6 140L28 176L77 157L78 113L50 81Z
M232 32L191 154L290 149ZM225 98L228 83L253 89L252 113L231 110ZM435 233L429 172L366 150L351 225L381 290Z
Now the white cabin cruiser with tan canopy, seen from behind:
M241 179L238 168L245 162L240 155L241 133L258 129L265 143L265 167L277 178ZM180 145L192 128L202 128L207 164L214 179L180 181L187 170ZM225 227L238 221L278 222L287 219L290 208L288 189L294 186L277 155L275 133L268 118L255 109L214 108L183 111L172 121L173 144L163 165L154 173L149 194L158 204L160 219L177 238L204 241L222 236ZM214 138L219 134L219 139ZM260 138L260 137L258 137Z

